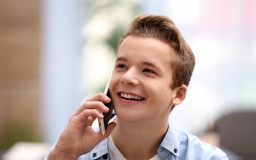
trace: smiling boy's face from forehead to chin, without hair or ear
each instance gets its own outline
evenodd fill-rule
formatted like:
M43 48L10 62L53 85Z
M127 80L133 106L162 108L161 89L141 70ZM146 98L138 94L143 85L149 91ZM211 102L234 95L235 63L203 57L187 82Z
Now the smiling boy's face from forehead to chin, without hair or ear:
M171 53L163 41L128 36L117 51L109 90L122 121L168 118L176 96L171 89Z

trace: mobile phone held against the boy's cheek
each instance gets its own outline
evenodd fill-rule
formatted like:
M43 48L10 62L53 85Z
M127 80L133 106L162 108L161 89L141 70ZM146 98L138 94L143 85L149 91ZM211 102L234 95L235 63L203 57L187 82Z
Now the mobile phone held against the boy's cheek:
M108 89L109 81L108 81L108 84L107 84L107 86L105 88L105 91L104 91L104 94L108 95L108 97L110 97L110 93L109 93L109 89ZM102 111L99 110L100 113L103 114L103 116L104 116L103 119L98 119L101 135L105 134L106 127L108 126L108 122L111 118L111 115L112 115L113 109L114 109L112 102L104 103L104 105L106 105L109 108L109 111L108 111L108 113L103 113Z

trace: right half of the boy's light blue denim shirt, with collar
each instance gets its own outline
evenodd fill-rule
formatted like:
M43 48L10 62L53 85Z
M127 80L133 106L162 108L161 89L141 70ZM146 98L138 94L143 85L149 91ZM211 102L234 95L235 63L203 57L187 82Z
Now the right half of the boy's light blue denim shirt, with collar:
M164 149L163 149L164 148ZM169 129L161 143L160 154L174 159L228 159L226 153L216 146L202 142L195 135L182 132L177 123L169 118ZM163 158L162 157L162 158Z

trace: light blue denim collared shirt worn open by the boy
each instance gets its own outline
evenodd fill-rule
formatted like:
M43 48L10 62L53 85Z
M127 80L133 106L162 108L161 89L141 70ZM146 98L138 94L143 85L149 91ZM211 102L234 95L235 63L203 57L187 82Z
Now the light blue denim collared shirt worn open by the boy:
M227 155L219 148L202 142L198 137L179 130L176 122L169 119L169 129L158 148L158 156L163 160L202 159L226 160ZM46 158L47 159L47 158ZM100 142L90 153L79 160L109 159L107 139Z

